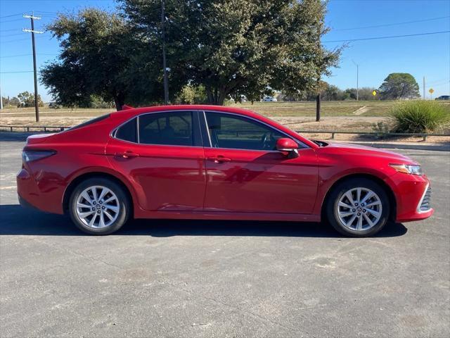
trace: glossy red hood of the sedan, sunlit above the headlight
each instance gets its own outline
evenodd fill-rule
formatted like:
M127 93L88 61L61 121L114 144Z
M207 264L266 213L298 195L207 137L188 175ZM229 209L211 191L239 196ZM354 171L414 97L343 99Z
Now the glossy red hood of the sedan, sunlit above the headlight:
M339 149L349 154L359 154L364 156L375 156L380 158L386 158L393 163L404 163L404 164L418 164L413 161L408 156L394 153L394 151L388 151L384 149L374 148L373 146L361 146L359 144L348 144L348 143L338 143L338 142L326 142L328 146L323 149L328 148L328 150Z

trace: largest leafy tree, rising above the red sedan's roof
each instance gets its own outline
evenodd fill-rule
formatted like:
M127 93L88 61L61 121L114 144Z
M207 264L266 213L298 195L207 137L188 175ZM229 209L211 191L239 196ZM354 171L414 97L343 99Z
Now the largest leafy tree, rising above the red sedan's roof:
M136 32L159 44L160 0L120 1ZM321 0L167 0L170 86L203 85L210 104L317 90L340 54L320 43L325 12Z

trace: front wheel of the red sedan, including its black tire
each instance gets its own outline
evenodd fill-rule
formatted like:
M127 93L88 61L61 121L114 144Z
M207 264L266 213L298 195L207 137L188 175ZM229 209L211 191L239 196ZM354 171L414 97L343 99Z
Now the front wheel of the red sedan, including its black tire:
M389 220L389 197L385 189L373 180L349 179L330 192L326 215L330 224L341 234L349 237L373 236Z

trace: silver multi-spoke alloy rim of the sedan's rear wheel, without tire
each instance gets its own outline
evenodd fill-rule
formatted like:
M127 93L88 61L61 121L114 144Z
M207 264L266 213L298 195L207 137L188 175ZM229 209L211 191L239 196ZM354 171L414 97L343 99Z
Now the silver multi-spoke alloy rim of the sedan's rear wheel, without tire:
M105 196L108 199L103 201ZM94 204L96 202L96 204ZM101 202L101 203L100 203ZM108 204L110 203L110 204ZM89 209L89 210L86 210ZM120 213L119 199L115 192L100 185L84 189L76 204L79 220L88 227L101 229L113 225Z

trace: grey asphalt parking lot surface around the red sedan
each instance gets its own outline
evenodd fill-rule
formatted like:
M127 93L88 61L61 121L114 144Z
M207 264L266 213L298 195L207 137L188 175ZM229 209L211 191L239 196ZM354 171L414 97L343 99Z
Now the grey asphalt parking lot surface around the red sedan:
M376 237L327 225L137 220L105 237L18 206L23 135L0 134L1 337L449 337L450 154L435 215Z

